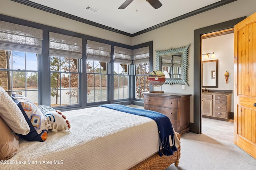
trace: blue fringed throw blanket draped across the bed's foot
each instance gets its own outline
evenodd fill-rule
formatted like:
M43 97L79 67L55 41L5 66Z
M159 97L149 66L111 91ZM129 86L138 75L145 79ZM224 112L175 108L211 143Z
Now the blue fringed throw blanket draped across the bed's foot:
M138 108L128 107L120 104L104 104L100 106L118 110L118 111L123 111L126 113L131 113L134 115L145 116L150 119L153 119L154 121L156 121L159 138L160 138L158 154L160 156L163 155L162 152L160 151L161 146L162 146L164 155L167 155L167 156L173 155L174 151L177 150L175 146L174 131L172 128L172 123L166 115L163 115L156 111L138 109ZM170 147L169 136L171 136L171 139L172 139L172 147Z

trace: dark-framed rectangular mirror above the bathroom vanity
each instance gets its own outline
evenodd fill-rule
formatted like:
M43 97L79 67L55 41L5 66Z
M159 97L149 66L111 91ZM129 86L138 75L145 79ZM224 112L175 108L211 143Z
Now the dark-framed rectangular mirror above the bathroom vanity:
M202 61L202 87L218 88L218 60Z

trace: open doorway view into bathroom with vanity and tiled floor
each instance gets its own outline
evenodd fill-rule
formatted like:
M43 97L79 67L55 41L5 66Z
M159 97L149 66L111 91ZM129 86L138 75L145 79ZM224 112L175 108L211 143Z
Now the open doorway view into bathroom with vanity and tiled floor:
M201 38L202 133L233 143L234 29Z

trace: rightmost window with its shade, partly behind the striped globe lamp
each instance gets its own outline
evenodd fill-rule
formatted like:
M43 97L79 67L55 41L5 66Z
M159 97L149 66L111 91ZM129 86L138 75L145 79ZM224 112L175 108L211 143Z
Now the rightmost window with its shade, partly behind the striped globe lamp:
M149 47L132 51L135 72L135 98L144 99L144 92L149 92Z

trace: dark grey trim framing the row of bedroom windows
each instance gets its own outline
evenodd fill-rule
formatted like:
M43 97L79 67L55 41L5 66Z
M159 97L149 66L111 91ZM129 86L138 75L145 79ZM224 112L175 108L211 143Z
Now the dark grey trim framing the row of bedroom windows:
M115 100L113 95L108 95L108 101L106 102L100 102L100 103L94 103L94 104L87 104L87 73L86 73L86 41L87 40L92 40L92 41L98 41L100 43L107 43L111 45L111 61L110 61L110 74L108 76L108 83L109 88L108 88L108 94L114 94L114 85L113 85L113 80L114 80L114 46L118 47L123 47L127 49L136 49L140 47L145 47L149 46L150 49L150 71L153 69L153 41L149 41L146 43L142 43L139 45L125 45L122 43L117 43L114 41L109 41L106 39L100 39L97 37L92 37L90 35L85 35L82 33L77 33L74 31L68 31L56 27L51 27L48 25L32 22L32 21L27 21L27 20L22 20L18 18L14 18L11 16L5 16L0 14L0 20L2 21L7 21L11 23L16 23L24 26L29 26L29 27L34 27L38 29L43 30L43 41L42 41L42 54L40 59L38 60L39 62L39 72L38 72L38 105L46 105L50 106L50 68L49 68L49 32L55 32L55 33L60 33L64 35L70 35L74 37L80 37L82 38L82 61L80 62L79 66L82 69L81 72L79 73L79 78L80 81L78 82L78 87L79 87L79 99L81 102L80 104L76 106L62 106L62 107L54 107L56 109L61 109L62 111L66 110L72 110L72 109L79 109L79 108L86 108L86 107L92 107L92 106L99 106L100 104L106 104L106 103L118 103L118 104L137 104L140 106L143 106L143 101L144 100L138 100L134 98L133 92L135 91L134 88L134 66L133 64L130 65L130 81L129 81L129 87L130 87L130 98L128 100L122 101L122 100ZM152 88L152 87L150 87Z

